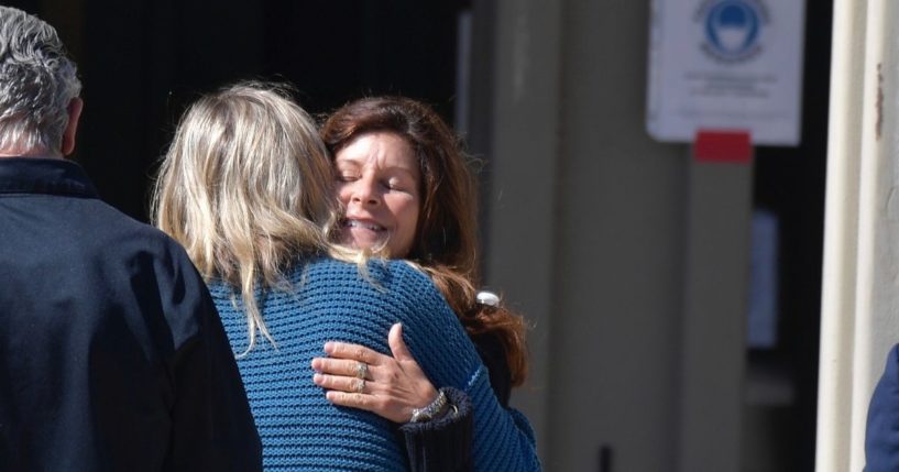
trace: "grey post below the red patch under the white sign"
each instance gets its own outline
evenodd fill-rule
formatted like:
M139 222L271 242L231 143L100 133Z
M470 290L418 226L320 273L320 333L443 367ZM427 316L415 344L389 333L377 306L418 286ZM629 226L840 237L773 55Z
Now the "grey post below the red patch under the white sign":
M752 165L692 162L681 332L679 468L741 468Z

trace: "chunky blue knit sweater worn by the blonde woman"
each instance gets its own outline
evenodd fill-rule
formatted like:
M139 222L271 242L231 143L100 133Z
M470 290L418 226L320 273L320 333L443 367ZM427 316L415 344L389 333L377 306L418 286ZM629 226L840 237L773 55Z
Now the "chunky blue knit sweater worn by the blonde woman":
M290 292L271 290L260 309L264 339L238 366L263 446L266 470L402 471L407 469L396 426L374 414L331 405L313 383L311 360L329 340L390 353L395 322L431 383L463 391L474 410L472 452L479 471L539 470L527 420L504 409L456 315L430 279L399 261L369 263L369 279L353 264L316 259L298 264ZM210 287L234 352L248 345L240 297Z

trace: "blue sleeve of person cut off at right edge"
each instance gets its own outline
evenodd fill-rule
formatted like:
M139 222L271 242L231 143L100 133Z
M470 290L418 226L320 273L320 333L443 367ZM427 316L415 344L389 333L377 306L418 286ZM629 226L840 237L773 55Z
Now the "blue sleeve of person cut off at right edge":
M865 431L866 472L899 470L899 345L874 389Z

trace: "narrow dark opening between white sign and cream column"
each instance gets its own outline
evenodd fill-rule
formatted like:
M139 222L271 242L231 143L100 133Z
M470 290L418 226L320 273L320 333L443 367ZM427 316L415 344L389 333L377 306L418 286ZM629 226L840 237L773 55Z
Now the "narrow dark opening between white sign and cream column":
M768 444L746 451L763 468L747 470L814 470L832 17L832 2L805 3L801 144L756 154L754 205L778 221L778 319L776 342L748 352L750 388L775 395L746 406L746 435Z

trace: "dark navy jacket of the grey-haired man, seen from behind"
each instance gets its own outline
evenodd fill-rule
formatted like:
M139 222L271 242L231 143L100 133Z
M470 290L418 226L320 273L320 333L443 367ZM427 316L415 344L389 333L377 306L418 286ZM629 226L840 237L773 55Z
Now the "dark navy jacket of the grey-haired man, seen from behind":
M0 157L0 470L260 468L184 250L100 201L78 165Z

